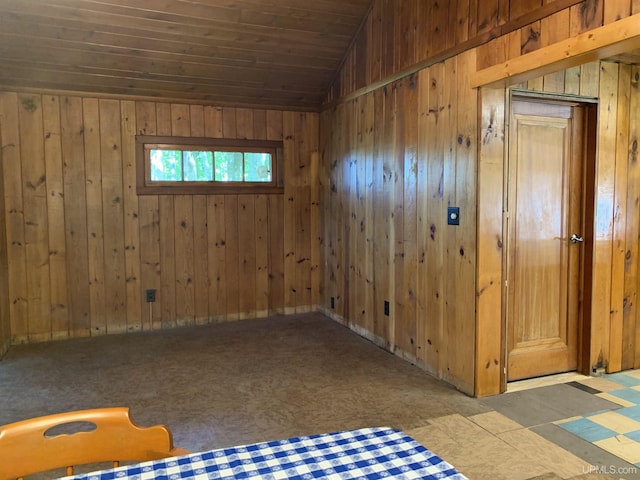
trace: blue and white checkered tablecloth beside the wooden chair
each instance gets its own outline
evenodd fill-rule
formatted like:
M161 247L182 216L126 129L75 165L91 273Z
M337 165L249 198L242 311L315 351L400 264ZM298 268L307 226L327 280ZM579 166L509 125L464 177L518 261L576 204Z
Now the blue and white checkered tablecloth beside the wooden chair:
M68 478L466 479L414 439L390 428L365 428L223 448Z

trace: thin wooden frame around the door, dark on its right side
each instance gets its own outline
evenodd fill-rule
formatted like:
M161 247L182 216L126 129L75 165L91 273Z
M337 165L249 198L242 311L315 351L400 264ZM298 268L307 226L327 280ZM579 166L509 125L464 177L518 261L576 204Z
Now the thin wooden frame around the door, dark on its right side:
M596 191L596 137L597 137L597 113L598 100L593 97L583 97L577 95L547 93L533 90L522 90L519 88L506 89L506 108L505 108L505 130L504 130L504 162L503 162L503 185L502 185L502 205L507 205L507 196L509 192L509 169L510 169L510 131L511 131L511 110L514 101L528 101L540 103L557 103L569 106L578 106L584 109L583 130L583 151L584 151L584 168L582 172L582 223L583 237L581 252L581 285L578 313L578 354L577 369L578 373L589 374L590 365L590 347L591 347L591 299L592 299L592 283L593 283L593 251L594 251L594 220L595 220L595 191ZM508 216L502 215L502 232L503 245L502 249L502 291L501 291L501 376L500 376L500 392L507 389L507 368L508 368L508 271L509 271L509 254L511 251L511 239L509 238Z

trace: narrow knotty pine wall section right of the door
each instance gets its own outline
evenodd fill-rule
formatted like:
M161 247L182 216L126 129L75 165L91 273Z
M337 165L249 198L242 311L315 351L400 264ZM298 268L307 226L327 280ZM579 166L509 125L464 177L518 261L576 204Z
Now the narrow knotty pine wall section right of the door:
M640 68L601 62L591 365L640 367Z

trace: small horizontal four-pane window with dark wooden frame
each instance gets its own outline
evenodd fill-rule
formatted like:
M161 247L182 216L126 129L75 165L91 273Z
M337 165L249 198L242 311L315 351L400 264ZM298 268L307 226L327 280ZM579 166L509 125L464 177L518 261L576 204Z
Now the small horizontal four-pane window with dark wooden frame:
M282 142L136 136L144 194L282 192Z

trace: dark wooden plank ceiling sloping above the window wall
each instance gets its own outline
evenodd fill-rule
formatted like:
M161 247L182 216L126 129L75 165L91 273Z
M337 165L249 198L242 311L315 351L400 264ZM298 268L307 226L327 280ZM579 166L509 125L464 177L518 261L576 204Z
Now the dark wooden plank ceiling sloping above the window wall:
M371 0L0 0L0 88L318 109Z

